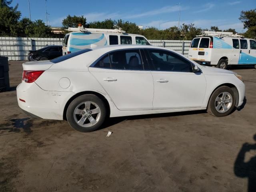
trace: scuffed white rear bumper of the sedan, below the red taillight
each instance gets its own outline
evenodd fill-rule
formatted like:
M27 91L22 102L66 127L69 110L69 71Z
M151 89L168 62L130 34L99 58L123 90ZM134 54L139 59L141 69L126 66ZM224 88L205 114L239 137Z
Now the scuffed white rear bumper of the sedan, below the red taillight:
M64 107L73 95L74 92L42 90L35 82L17 86L18 106L26 114L43 119L63 120Z

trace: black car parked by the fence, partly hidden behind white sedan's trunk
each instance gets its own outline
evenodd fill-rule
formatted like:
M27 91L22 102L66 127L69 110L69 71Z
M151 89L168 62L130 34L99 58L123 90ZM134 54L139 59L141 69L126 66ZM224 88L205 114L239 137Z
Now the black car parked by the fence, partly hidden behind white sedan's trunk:
M54 59L56 57L62 56L62 46L60 45L50 45L44 48L28 52L29 61L44 61Z

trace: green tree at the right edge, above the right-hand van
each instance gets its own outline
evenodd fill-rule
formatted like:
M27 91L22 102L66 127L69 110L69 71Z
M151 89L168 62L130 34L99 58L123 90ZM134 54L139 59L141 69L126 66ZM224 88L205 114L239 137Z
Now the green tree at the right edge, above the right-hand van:
M239 20L244 23L244 29L256 26L256 9L241 11Z

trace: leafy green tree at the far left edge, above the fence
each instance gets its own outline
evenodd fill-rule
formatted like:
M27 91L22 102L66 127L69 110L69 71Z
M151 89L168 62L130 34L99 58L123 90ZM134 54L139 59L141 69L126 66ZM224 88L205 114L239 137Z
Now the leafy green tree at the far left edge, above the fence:
M8 5L8 3L7 3ZM18 34L18 21L21 13L17 11L18 4L15 8L8 6L0 6L0 32L17 35Z

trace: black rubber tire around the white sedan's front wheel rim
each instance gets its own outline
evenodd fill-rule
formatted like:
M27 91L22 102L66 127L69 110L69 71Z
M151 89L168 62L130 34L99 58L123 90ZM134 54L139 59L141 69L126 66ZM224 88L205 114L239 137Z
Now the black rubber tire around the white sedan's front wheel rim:
M218 110L215 108L216 104L218 104L216 102L216 98L222 92L228 92L232 96L232 104L230 105L230 108L226 112L218 112ZM210 97L210 100L208 102L207 112L216 117L224 117L229 115L231 112L233 112L235 108L235 104L236 104L236 96L234 94L234 91L228 86L221 86L212 93L212 96Z

